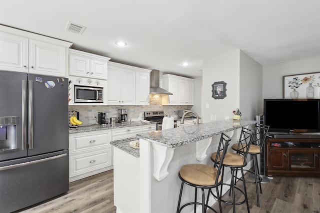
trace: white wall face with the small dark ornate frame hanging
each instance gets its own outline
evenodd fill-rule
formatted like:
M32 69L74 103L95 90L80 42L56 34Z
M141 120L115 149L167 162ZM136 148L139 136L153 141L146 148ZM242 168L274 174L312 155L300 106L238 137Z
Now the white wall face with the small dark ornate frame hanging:
M232 111L239 107L239 50L203 60L202 68L202 122L210 122L210 115L216 115L216 120L231 118ZM226 97L212 98L212 84L216 81L226 83ZM206 104L209 105L206 108Z

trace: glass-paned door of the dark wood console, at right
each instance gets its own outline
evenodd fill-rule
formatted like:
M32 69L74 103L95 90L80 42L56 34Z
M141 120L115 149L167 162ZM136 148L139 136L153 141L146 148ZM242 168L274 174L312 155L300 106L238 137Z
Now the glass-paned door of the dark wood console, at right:
M289 151L289 170L318 170L319 159L317 151Z

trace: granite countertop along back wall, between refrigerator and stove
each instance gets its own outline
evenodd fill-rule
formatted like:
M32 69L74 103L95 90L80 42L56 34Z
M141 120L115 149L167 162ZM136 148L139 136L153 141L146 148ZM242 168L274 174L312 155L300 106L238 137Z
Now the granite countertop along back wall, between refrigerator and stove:
M107 129L116 129L122 127L133 127L133 126L142 126L156 124L155 122L141 122L141 121L132 121L126 123L116 123L115 125L106 124L106 125L89 125L89 126L78 126L76 128L69 128L69 134L80 133L80 132L91 132L91 131L99 131L99 130L107 130Z

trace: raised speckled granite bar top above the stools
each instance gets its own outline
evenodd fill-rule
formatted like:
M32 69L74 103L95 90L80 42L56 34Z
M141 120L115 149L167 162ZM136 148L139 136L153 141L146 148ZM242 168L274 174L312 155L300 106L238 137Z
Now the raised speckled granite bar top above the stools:
M230 119L162 131L140 133L137 134L137 137L168 148L176 148L219 135L222 132L229 132L255 123L256 121L233 121Z

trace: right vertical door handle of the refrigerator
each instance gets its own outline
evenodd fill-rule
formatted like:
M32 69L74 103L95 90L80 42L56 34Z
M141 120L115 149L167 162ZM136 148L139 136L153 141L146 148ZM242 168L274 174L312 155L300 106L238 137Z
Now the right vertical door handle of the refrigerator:
M33 81L30 80L28 87L28 117L29 149L33 149Z

